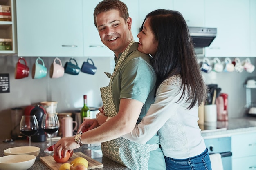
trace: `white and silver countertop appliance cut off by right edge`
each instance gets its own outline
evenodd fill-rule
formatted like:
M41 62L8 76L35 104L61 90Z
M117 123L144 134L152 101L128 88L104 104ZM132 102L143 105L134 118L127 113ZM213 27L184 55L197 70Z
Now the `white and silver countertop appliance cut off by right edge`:
M251 91L255 91L256 89L256 77L249 77L244 84L246 88L246 113L249 116L256 117L256 102L251 101Z

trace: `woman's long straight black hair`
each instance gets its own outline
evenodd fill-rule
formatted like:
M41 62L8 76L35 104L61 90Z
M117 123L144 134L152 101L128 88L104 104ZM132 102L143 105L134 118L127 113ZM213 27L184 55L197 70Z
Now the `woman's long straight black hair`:
M206 99L207 86L202 78L189 29L182 14L178 11L158 9L149 13L146 18L150 19L149 25L158 41L157 51L152 59L157 74L157 87L165 79L180 74L182 96L179 101L188 94L186 100L191 101L188 109L197 103L202 104Z

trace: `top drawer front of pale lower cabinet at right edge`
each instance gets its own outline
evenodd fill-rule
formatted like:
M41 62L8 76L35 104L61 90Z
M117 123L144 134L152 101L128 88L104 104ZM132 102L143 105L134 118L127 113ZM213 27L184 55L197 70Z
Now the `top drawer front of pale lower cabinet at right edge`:
M231 148L232 159L256 155L256 132L232 136Z

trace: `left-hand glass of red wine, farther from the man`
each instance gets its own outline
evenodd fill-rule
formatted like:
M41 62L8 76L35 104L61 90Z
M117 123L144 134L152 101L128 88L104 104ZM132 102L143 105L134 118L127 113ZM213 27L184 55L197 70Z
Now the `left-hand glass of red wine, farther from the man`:
M23 115L20 120L20 132L29 137L29 146L31 146L30 137L38 131L38 121L35 115Z

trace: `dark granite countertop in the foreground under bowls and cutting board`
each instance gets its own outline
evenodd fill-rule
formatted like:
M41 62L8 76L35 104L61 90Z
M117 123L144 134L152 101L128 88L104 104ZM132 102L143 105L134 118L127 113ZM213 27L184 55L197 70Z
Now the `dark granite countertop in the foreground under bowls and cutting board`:
M52 141L52 143L56 143L56 141ZM0 143L0 157L4 156L4 150L7 148L17 147L17 146L28 146L27 140L15 140L13 142L1 142ZM31 146L37 146L40 147L40 153L36 157L36 161L34 165L29 168L29 170L50 170L42 161L40 161L40 157L49 156L48 153L45 153L44 150L50 146L49 141L45 142L31 142ZM89 149L90 148L90 149ZM130 170L129 168L126 168L125 166L122 166L119 163L116 163L112 161L111 159L108 159L107 157L103 157L102 155L98 154L97 152L94 152L93 149L98 150L100 146L92 146L92 145L83 145L80 148L77 148L74 150L74 152L82 152L85 155L88 155L92 157L92 159L95 159L96 161L99 161L103 164L103 168L96 168L94 170Z

